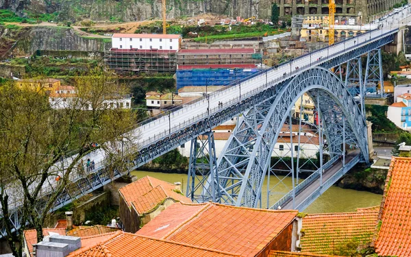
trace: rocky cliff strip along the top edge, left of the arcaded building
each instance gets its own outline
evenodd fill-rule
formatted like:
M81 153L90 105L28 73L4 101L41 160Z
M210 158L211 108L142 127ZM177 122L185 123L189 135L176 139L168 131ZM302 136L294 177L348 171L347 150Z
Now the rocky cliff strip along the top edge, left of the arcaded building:
M167 0L167 17L203 13L269 19L274 0ZM60 20L142 21L161 15L159 0L0 0L0 8L23 15L24 10L58 13Z

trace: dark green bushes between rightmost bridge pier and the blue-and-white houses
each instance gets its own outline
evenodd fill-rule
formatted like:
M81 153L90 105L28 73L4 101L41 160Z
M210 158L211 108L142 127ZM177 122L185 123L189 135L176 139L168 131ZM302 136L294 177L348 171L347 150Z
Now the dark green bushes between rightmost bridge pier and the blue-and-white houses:
M366 112L371 112L371 116L367 117L367 121L373 123L372 130L377 133L393 133L400 134L403 132L399 127L397 127L392 121L387 119L386 112L388 106L376 106L376 105L366 105Z

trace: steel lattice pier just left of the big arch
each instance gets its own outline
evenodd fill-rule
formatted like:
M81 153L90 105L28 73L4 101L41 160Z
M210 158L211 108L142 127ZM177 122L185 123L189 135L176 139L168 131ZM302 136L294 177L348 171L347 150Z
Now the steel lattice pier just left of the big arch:
M219 188L214 184L219 178L216 172L216 147L214 133L206 132L191 140L190 162L188 166L187 197L193 202L216 201ZM212 184L208 184L208 178Z

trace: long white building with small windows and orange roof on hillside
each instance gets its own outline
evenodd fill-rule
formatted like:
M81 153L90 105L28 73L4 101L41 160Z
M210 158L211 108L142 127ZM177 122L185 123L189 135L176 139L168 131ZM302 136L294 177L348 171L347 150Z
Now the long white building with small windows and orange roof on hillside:
M182 35L175 34L113 34L112 49L178 51Z

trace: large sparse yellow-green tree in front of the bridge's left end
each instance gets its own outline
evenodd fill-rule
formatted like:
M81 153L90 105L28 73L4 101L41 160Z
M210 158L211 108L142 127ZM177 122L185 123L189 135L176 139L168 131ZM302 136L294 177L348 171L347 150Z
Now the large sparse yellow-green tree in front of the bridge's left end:
M135 147L135 136L123 134L135 123L134 112L108 104L123 98L125 87L102 69L77 77L74 86L77 97L66 99L58 110L61 103L49 101L46 88L25 90L13 82L0 86L0 203L14 256L21 256L23 230L35 228L42 240L49 210L75 172L84 171L87 154L105 151L107 167L120 163L123 148ZM15 208L22 219L18 233L8 219Z

